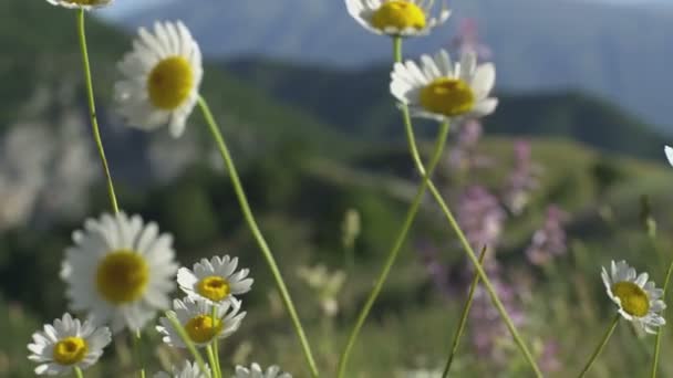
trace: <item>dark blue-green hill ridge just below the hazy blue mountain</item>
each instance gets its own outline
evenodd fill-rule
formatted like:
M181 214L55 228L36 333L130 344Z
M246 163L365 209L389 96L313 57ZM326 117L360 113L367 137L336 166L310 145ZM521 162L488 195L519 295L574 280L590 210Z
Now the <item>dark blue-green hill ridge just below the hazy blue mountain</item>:
M385 67L351 71L239 60L226 63L225 70L354 136L403 137ZM656 159L667 140L638 117L578 92L498 95L498 111L486 118L489 134L569 137L599 149Z

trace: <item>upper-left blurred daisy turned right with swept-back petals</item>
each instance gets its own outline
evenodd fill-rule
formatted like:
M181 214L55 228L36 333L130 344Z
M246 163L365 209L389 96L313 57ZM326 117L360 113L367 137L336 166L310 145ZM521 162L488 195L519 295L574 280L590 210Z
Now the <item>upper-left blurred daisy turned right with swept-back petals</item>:
M144 28L133 51L118 63L124 76L114 86L120 113L145 130L168 125L179 137L198 99L204 74L201 53L180 22L156 22L154 33Z

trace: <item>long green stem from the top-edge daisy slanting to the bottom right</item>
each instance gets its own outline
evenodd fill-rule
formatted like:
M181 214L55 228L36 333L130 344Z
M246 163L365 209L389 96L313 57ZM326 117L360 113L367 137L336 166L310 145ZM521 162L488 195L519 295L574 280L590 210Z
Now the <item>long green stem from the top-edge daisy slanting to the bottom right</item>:
M401 43L395 44L394 50L395 50L395 59L400 62L401 56L402 56ZM411 115L408 113L407 106L402 106L402 114L404 116L404 126L405 126L405 130L406 130L406 137L408 140L408 147L410 147L410 150L412 154L412 158L414 159L414 164L416 165L416 169L418 170L418 172L423 176L426 176L426 170L423 165L423 160L421 159L421 154L418 153L418 147L416 145L416 138L414 136L414 129L412 126ZM446 220L448 221L451 227L456 232L458 240L460 241L460 244L463 245L463 250L466 253L467 258L475 265L475 269L477 271L477 274L479 275L479 279L484 282L484 286L486 287L486 291L488 292L488 295L490 296L493 304L496 306L498 313L500 314L503 322L505 322L505 325L507 326L507 329L509 330L509 333L511 334L511 337L514 338L515 343L517 344L517 347L519 348L519 350L521 351L521 354L524 355L524 357L526 358L526 360L528 361L528 364L535 371L536 376L542 377L542 371L540 370L537 363L532 358L532 355L530 354L530 350L528 350L526 343L524 343L524 339L519 335L516 326L511 322L511 318L507 314L507 311L505 309L505 306L500 302L500 298L498 297L495 288L493 287L490 280L488 280L488 277L486 276L486 272L479 264L474 249L472 248L472 245L469 245L469 242L467 241L465 233L458 225L458 222L456 221L454 214L452 213L448 206L444 201L442 193L439 192L439 190L437 190L437 188L435 187L435 185L432 181L428 182L427 187L428 187L431 193L433 195L433 197L435 198L435 200L437 201L437 203L439 204L439 208L442 209L444 217L446 218Z

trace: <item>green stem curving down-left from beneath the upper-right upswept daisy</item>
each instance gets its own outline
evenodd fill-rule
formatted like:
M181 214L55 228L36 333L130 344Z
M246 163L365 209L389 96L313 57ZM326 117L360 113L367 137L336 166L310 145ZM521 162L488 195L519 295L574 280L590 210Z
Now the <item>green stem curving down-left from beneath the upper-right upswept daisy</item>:
M355 339L358 338L358 335L360 334L360 329L362 328L364 321L366 319L370 311L372 309L372 306L374 305L374 302L376 301L376 297L379 296L379 293L381 292L383 284L385 283L385 280L387 279L387 275L389 275L391 269L393 267L395 260L397 259L397 254L400 253L400 250L402 249L402 245L404 244L404 241L406 240L406 234L408 233L408 231L414 222L416 213L418 212L418 208L421 207L421 202L423 201L423 198L425 197L425 191L426 191L428 182L429 182L429 176L432 175L432 172L436 168L437 164L439 162L442 153L444 151L444 146L446 145L446 137L448 136L448 128L449 128L448 123L444 123L441 126L439 134L437 136L437 140L435 144L433 157L432 157L429 167L427 169L428 175L426 175L423 178L423 182L421 183L421 186L418 187L418 190L416 191L416 196L414 197L412 206L408 208L408 211L406 213L406 218L404 220L402 229L397 232L397 239L395 240L393 248L389 252L385 264L383 265L383 269L382 269L381 273L379 274L379 279L376 280L376 283L374 284L374 287L373 287L372 292L370 293L370 296L367 297L367 300L364 304L364 307L360 312L360 315L358 316L358 321L355 322L355 326L353 327L353 329L351 330L351 334L349 336L346 346L345 346L343 353L341 354L341 358L339 360L339 374L338 374L339 378L342 378L345 375L345 367L348 365L348 359L349 359L351 349L353 348L353 345L355 344Z

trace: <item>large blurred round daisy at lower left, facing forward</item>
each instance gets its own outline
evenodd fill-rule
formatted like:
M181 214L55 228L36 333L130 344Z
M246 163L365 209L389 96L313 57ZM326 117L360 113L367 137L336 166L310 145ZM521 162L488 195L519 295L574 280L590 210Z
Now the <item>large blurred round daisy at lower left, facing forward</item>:
M103 214L75 231L61 277L73 311L86 311L114 333L137 330L168 308L177 271L173 238L138 216Z

